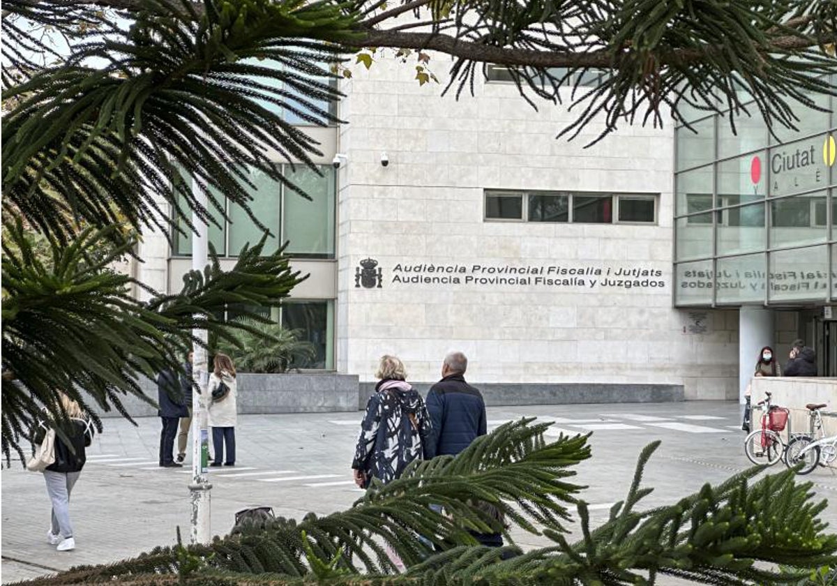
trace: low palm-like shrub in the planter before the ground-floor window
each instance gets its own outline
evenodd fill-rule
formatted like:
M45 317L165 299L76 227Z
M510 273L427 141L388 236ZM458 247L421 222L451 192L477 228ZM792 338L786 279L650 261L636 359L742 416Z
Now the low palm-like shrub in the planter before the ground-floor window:
M300 330L280 324L241 320L242 330L234 342L218 342L218 350L233 359L242 373L286 373L289 368L304 368L316 357L316 347L301 341Z

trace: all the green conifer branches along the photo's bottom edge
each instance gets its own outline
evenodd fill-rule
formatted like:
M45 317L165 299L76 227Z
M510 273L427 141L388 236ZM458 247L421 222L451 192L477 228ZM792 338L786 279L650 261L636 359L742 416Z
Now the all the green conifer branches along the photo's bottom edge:
M706 484L674 505L639 511L651 489L641 486L644 465L658 443L648 446L624 501L607 522L589 526L579 487L564 479L569 467L589 456L586 438L562 436L547 443L547 425L521 420L478 439L460 455L413 465L398 481L373 486L348 511L308 515L297 523L277 519L264 532L226 537L210 546L189 547L208 568L187 584L655 584L677 576L696 583L772 586L808 577L826 579L837 562L837 536L819 521L825 502L812 502L810 483L796 484L793 470L765 475L756 467L718 486ZM485 530L489 520L469 500L514 503L511 521L542 533L553 545L522 553L516 547L477 546L452 522L429 510L442 503L451 517ZM567 511L578 509L581 539L566 537ZM511 509L511 504L506 508ZM418 536L444 549L431 555ZM408 566L393 574L382 542ZM165 582L172 549L110 566L75 568L33 586L59 583L145 584L148 574ZM208 556L214 555L213 558ZM511 558L502 559L511 556ZM778 564L793 569L775 570ZM135 582L136 581L136 582ZM796 582L796 583L824 583ZM827 583L827 582L825 582Z

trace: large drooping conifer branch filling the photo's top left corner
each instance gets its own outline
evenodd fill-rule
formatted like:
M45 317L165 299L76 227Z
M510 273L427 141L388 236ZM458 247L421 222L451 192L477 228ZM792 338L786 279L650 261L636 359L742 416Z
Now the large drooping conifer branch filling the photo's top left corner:
M28 4L4 10L49 22ZM73 234L67 212L94 226L121 216L134 229L165 231L160 200L191 226L178 193L213 221L179 170L222 212L221 196L247 209L253 186L244 167L301 193L265 153L311 164L311 154L321 152L273 109L318 126L336 121L316 102L338 94L316 78L331 75L326 64L341 59L340 42L352 36L347 7L299 0L206 2L200 13L187 0L141 7L130 28L82 13L98 26L75 32L72 56L54 67L30 66L28 79L7 83L3 93L15 102L3 116L4 209L14 205L55 239Z

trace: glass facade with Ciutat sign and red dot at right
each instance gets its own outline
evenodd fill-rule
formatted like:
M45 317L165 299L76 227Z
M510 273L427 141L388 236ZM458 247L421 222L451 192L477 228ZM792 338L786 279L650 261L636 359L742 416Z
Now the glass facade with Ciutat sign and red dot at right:
M757 117L675 130L675 306L837 299L837 115L795 113L778 136Z

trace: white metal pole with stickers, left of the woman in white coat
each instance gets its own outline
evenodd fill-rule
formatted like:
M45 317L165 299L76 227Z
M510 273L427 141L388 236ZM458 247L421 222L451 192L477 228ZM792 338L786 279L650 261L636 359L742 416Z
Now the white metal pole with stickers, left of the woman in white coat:
M207 194L192 180L192 194L203 206L207 207ZM207 265L208 226L198 214L192 212L192 223L196 232L192 234L192 270L203 269ZM207 331L195 329L193 336L203 342L203 346L196 344L193 348L192 377L200 388L200 393L192 393L192 483L189 485L190 500L192 501L192 543L209 543L212 540L211 527L211 491L212 485L208 478L209 460L209 429L207 422L207 386L209 373L207 368Z

